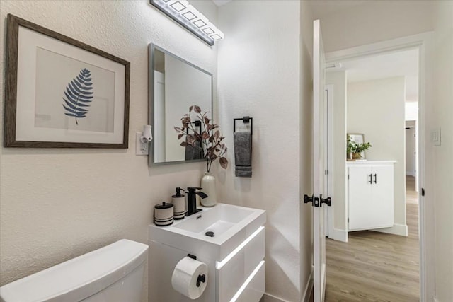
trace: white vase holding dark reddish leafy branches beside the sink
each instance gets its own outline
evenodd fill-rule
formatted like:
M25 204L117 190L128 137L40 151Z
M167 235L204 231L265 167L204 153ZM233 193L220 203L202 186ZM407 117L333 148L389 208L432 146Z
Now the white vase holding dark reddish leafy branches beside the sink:
M195 113L195 119L190 116ZM208 113L202 113L200 106L192 105L189 112L181 117L181 127L175 127L178 133L178 139L185 138L180 143L180 146L198 149L203 158L206 159L206 172L201 180L203 192L207 194L207 198L202 199L201 203L205 207L212 207L217 203L217 192L215 190L215 178L210 173L212 163L219 160L220 166L224 169L228 168L228 160L225 158L226 146L223 142L224 138L219 131L219 125L213 124L208 117ZM200 124L197 129L195 122Z

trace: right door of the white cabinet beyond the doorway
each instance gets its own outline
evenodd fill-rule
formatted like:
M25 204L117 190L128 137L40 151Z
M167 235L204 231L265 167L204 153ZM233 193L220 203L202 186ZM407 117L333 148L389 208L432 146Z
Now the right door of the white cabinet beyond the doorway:
M379 165L372 168L373 228L394 225L394 167Z

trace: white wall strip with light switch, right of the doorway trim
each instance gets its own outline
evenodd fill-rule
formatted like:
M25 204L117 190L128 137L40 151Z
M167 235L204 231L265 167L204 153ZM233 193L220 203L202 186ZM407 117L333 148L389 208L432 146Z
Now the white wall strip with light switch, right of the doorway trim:
M440 127L442 146L429 146L435 209L435 295L453 301L453 1L438 1L435 11L435 98L429 130ZM428 137L430 132L427 133Z

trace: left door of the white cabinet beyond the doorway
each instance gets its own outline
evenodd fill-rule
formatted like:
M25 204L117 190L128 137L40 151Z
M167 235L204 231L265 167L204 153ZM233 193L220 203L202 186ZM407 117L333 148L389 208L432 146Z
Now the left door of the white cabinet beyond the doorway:
M363 230L369 227L372 204L370 175L371 166L357 165L349 167L348 199L349 229Z

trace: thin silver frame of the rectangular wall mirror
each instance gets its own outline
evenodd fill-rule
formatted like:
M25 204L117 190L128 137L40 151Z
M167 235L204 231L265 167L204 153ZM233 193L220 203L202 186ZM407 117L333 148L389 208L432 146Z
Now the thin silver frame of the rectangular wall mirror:
M178 57L176 54L173 54L171 52L168 52L167 50L164 50L164 48L162 47L159 47L153 43L150 43L149 44L149 47L148 47L148 122L150 125L152 125L152 134L153 134L153 137L156 137L154 135L154 51L155 50L159 50L161 52L164 52L165 54L168 54L178 60L180 60L181 62L185 63L185 64L188 64L189 66L192 66L194 67L195 69L199 70L199 71L202 71L203 73L209 75L211 77L211 108L210 108L210 112L211 112L211 118L213 118L213 108L214 108L214 81L212 79L212 74L209 72L209 71L206 71L205 69L201 69L200 67L196 66L195 64L192 64L188 61L186 61L185 59L181 58L181 57ZM194 105L197 105L197 104L194 104ZM177 135L176 135L176 132L175 132L175 139L177 139ZM168 161L168 162L159 162L159 163L155 163L154 162L154 139L149 143L149 153L148 153L148 165L151 167L152 165L171 165L173 163L196 163L196 162L202 162L202 161L206 161L205 158L201 158L201 159L193 159L193 160L190 160L190 161Z

